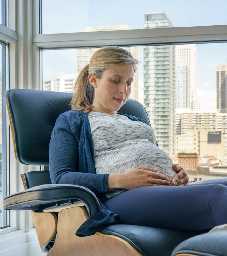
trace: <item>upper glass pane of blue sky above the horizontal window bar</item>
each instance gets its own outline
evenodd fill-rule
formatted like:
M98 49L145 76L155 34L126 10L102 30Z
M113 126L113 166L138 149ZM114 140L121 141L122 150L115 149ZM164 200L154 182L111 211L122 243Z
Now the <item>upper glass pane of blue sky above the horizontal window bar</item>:
M171 27L225 25L227 1L41 0L42 33L142 29L149 14L166 13ZM165 21L161 22L163 26Z

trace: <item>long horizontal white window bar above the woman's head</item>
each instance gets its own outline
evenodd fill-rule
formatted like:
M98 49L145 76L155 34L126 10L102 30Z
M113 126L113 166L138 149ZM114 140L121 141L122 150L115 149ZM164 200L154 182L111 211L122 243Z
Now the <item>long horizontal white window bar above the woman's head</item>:
M43 49L209 42L227 42L227 25L34 34L33 36L33 45Z

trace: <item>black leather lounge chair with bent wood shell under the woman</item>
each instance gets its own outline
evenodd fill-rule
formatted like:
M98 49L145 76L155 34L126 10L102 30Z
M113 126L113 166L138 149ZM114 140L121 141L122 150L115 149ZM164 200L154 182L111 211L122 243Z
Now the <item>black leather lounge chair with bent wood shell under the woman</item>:
M97 213L100 206L89 189L51 184L50 181L50 136L59 114L70 109L71 97L70 93L40 90L10 89L6 92L15 157L22 164L41 165L45 170L25 173L22 176L25 190L7 196L4 208L31 210L41 250L48 256L170 256L182 241L200 234L135 225L110 225L92 236L75 235L79 226ZM149 123L144 107L137 101L129 99L120 112L143 118Z

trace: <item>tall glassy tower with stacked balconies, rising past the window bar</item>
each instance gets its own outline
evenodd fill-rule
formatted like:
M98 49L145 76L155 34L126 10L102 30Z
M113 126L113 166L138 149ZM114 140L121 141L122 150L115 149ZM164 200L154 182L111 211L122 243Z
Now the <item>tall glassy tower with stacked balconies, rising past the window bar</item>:
M146 12L143 28L172 27L164 11ZM160 148L170 156L174 146L174 58L173 45L144 46L144 107Z

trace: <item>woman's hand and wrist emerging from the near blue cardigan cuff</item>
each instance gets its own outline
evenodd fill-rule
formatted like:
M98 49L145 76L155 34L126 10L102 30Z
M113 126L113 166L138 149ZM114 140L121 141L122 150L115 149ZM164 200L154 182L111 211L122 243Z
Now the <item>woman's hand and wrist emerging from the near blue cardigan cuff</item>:
M133 189L146 186L168 186L169 178L157 173L157 169L136 167L125 173L110 174L108 178L108 190Z

